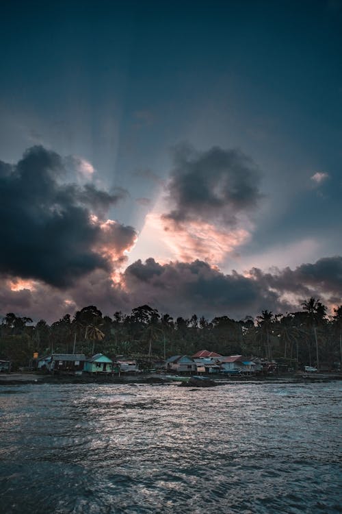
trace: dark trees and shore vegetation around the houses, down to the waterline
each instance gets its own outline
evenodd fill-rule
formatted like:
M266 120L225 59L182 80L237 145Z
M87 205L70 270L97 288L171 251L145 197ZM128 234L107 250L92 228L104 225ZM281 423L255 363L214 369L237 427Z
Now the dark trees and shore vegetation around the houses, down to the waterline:
M315 377L311 374L310 380L326 380L327 377L338 376L341 371L342 305L337 306L329 316L326 306L319 299L311 297L302 302L302 310L295 313L284 315L263 310L255 319L246 316L240 320L226 315L208 320L196 314L188 319L173 319L148 305L134 308L129 315L116 312L109 317L103 315L96 306L87 306L73 317L67 314L51 324L44 319L34 322L29 317L8 313L0 325L2 371L12 373L34 371L38 369L40 358L53 354L74 355L75 358L79 354L88 361L94 361L92 356L103 355L107 356L108 363L116 363L117 356L128 356L132 362L134 360L137 363L136 370L144 371L144 374L131 376L131 382L162 381L167 378L162 378L160 373L151 375L148 372L175 370L172 359L168 367L168 359L172 356L197 356L203 348L209 349L212 356L226 356L228 360L226 367L224 360L221 359L219 363L212 360L211 365L208 364L205 371L202 370L202 374L216 371L214 367L218 365L220 371L226 374L235 373L239 369L233 365L229 367L229 359L245 356L245 360L241 357L240 361L250 363L250 366L241 367L241 371L256 370L257 367L251 365L259 362L263 371L268 370L268 375L273 374L274 379L286 372L288 378L293 376L293 380L308 380L308 374L304 374L306 378L300 378L307 367L317 371ZM265 363L268 363L268 367ZM104 370L105 367L101 368L101 371ZM184 371L181 367L179 370ZM83 374L70 379L66 376L38 375L33 380L50 383L55 380L127 381L124 373L114 376L113 367L107 367L108 371L111 373L101 377L86 377ZM196 367L191 371L196 373ZM241 373L241 376L225 378L251 378L250 373L244 375ZM266 375L259 374L258 380L272 378ZM0 378L1 382L7 383L8 379L4 376ZM9 380L22 382L18 376L11 376Z

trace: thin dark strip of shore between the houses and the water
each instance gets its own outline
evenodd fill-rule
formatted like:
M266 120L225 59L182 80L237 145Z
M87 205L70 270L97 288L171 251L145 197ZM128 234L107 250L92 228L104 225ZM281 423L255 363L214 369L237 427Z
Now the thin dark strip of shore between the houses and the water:
M211 378L211 377L210 377ZM342 380L342 374L286 374L277 376L243 376L234 378L212 377L215 385L239 384L240 382L263 384L305 384L308 382L337 382ZM140 374L127 376L75 376L75 375L40 375L40 374L1 374L0 386L25 385L25 384L178 384L178 381L171 380L168 376L159 374Z

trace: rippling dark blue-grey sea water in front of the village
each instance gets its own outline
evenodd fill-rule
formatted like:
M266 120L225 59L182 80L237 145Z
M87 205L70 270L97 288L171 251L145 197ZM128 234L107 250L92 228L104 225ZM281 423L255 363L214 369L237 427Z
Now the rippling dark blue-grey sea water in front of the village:
M0 512L339 513L340 413L337 382L1 387Z

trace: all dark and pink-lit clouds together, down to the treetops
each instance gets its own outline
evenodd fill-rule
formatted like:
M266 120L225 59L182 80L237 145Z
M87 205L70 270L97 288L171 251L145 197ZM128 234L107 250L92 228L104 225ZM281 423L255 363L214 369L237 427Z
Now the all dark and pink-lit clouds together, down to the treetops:
M176 258L137 260L124 271L137 233L107 212L126 193L70 182L72 163L43 147L28 149L17 164L0 162L1 314L54 321L87 304L112 315L148 303L173 316L240 319L265 308L295 310L311 295L341 304L341 256L244 274L216 266L248 239L262 197L259 171L239 151L176 149L169 210L147 217L153 237Z

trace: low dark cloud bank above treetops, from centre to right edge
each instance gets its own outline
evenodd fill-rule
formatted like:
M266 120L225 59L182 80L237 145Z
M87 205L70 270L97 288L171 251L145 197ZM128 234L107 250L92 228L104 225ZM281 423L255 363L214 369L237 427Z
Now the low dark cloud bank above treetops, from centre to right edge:
M224 274L200 260L161 265L150 258L127 267L124 282L131 302L150 302L172 315L196 312L241 318L258 315L263 309L286 313L301 309L302 300L311 295L328 305L341 304L342 257L321 258L314 264L272 273L252 269L248 276L236 271Z

